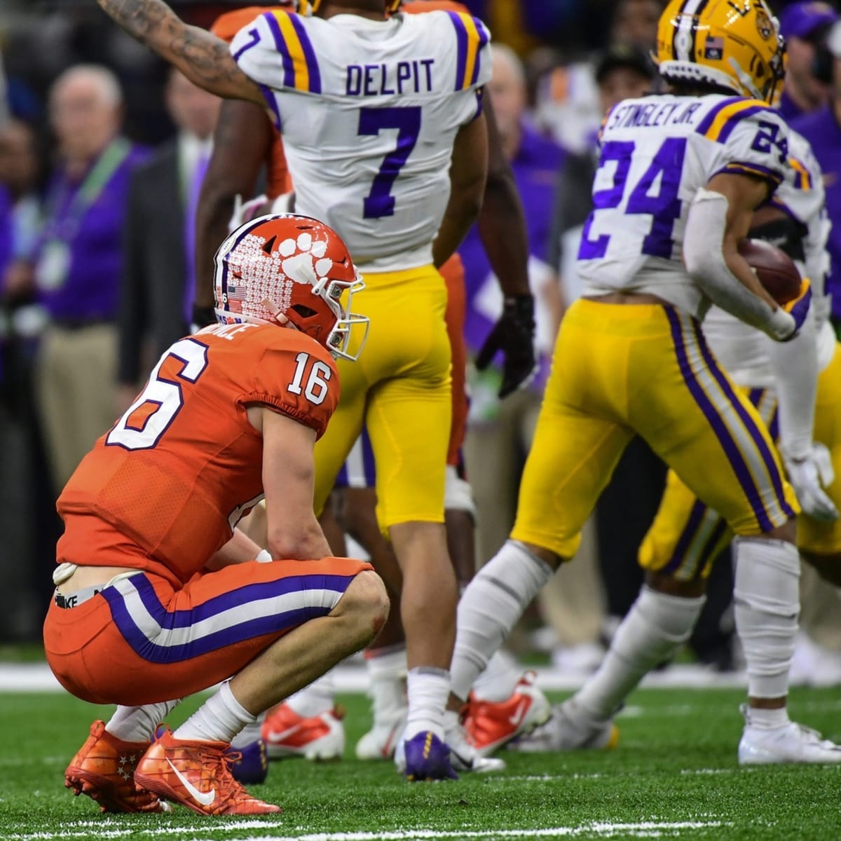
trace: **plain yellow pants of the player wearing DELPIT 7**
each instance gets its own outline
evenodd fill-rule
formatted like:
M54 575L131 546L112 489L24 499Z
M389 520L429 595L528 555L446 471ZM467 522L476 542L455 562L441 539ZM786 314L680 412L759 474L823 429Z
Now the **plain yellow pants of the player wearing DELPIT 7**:
M443 522L452 416L447 288L431 266L364 278L353 309L371 320L368 343L357 362L338 361L339 405L315 445L315 510L324 508L364 424L383 531L403 522Z

